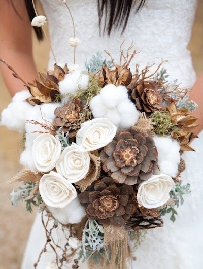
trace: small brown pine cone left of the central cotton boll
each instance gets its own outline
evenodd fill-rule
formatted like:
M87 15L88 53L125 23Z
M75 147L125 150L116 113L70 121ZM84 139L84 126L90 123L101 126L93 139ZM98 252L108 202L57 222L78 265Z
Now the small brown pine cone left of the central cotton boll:
M90 117L80 98L77 98L74 102L64 103L61 107L57 107L54 114L56 115L54 126L62 127L64 132L69 132L69 138L75 137L82 121L84 122Z

